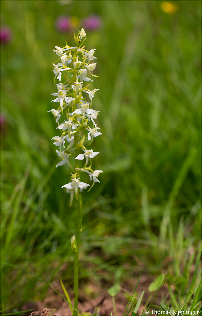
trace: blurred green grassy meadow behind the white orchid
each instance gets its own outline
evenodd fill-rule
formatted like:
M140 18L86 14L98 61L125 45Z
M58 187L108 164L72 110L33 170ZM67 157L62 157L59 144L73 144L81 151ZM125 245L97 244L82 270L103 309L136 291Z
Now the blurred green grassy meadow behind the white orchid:
M71 17L69 32L56 27L61 15ZM96 49L91 88L100 89L93 108L103 134L92 143L100 152L93 168L104 173L82 194L80 279L110 285L121 267L124 278L171 269L177 280L200 249L201 1L3 0L1 26L11 33L1 45L4 307L42 300L59 273L72 286L76 202L69 208L61 189L70 170L55 168L47 111L54 46L74 46L90 15L101 21L85 29L87 50Z

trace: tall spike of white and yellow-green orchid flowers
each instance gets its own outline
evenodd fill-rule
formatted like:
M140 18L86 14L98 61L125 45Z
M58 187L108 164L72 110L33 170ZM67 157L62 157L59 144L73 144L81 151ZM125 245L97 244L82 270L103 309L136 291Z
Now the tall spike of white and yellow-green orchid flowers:
M93 82L89 76L96 77L92 73L96 68L96 63L94 63L97 59L94 56L96 50L87 51L85 49L86 32L84 29L81 29L77 35L74 34L74 38L75 46L71 47L66 42L63 48L55 46L53 49L58 58L53 64L57 92L51 94L54 96L51 102L58 103L58 108L53 108L48 112L51 112L56 118L56 130L59 133L58 136L52 138L53 144L58 149L56 149L56 153L61 159L56 164L56 168L68 165L72 172L71 181L62 188L65 187L66 191L70 193L70 205L75 195L78 199L78 208L80 208L81 191L88 186L91 189L95 182L99 182L98 175L103 173L102 170L93 171L91 169L92 158L100 153L89 149L93 138L102 133L95 123L99 111L92 108L93 98L99 89L89 89L89 85ZM89 174L90 181L93 181L91 186L80 181L82 172Z

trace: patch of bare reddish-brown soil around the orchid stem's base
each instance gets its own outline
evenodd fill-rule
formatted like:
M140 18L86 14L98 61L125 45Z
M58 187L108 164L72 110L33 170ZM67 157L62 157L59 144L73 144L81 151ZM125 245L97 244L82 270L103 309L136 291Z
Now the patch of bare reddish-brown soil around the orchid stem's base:
M127 280L127 282L121 284L122 290L115 296L116 302L116 315L123 315L126 310L127 303L129 301L129 297L132 295L135 286L137 284L136 278L131 278ZM154 277L150 275L142 275L140 281L138 283L135 298L138 299L144 290L143 300L139 307L137 315L141 315L144 309L143 304L146 303L150 293L148 291L149 284L154 280ZM59 281L52 283L53 287L63 296L65 297L61 285ZM107 288L100 288L98 284L87 283L83 288L81 288L81 292L79 295L79 302L78 302L78 310L83 315L111 315L111 311L113 308L112 305L112 298L107 292ZM67 288L68 293L70 295L71 300L73 301L73 290L71 288ZM156 304L160 304L160 301L165 298L167 295L167 287L166 284L160 289L157 294ZM153 298L154 295L152 295ZM151 298L151 299L152 299ZM150 300L151 301L151 300ZM56 315L56 316L69 316L72 315L69 304L61 298L51 287L48 290L47 297L44 299L43 302L36 302L34 305L33 303L26 303L23 306L22 310L34 308L35 312L33 312L32 316L38 315ZM132 312L133 310L131 310ZM114 310L113 310L114 312ZM114 313L112 312L112 315ZM130 314L131 314L130 312Z

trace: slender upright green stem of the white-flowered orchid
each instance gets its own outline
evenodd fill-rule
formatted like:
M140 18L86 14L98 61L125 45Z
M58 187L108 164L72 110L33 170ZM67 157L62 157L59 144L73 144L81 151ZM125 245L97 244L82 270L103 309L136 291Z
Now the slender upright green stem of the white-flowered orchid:
M78 133L74 134L74 145L75 147L78 144ZM75 157L78 155L78 149L75 149ZM75 160L75 168L79 168L79 161ZM78 176L80 176L80 172ZM78 188L78 217L76 225L76 243L77 243L77 252L74 253L74 307L78 309L78 284L79 284L79 244L81 236L81 227L82 227L82 200L81 200L81 191ZM73 315L77 316L77 311L74 309Z

